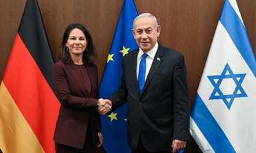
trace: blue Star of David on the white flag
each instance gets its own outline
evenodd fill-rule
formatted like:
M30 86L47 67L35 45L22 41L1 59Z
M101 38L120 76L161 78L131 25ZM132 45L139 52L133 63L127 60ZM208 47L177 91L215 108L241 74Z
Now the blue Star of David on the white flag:
M231 68L229 67L229 65L226 64L221 75L207 76L209 78L211 84L213 84L213 87L214 87L209 100L222 99L223 102L226 104L227 108L230 110L231 105L233 104L233 101L235 98L247 97L245 90L243 90L243 88L241 86L241 83L243 82L245 75L246 75L246 73L234 74L233 71L231 70ZM226 79L226 78L233 79L233 81L236 84L233 94L224 95L223 92L221 91L221 89L219 88L223 79Z

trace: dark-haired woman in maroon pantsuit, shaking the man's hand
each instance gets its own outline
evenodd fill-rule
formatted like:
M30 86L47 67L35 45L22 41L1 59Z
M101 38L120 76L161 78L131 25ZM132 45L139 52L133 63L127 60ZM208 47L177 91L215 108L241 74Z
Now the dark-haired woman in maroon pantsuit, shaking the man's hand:
M54 134L57 153L96 152L103 142L96 57L89 31L79 23L69 25L61 61L53 65L53 84L61 103Z

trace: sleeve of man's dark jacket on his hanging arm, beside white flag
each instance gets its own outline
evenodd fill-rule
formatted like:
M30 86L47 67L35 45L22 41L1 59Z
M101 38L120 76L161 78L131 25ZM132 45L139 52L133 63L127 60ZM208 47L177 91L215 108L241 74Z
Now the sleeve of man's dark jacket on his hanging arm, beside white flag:
M189 91L183 56L177 59L173 72L173 139L189 140Z

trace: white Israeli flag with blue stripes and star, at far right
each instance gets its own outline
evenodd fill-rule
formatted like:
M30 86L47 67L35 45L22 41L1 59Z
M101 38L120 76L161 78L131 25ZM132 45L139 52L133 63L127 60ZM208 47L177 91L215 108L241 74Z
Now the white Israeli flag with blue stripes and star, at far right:
M256 61L237 2L225 0L191 110L203 152L255 152Z

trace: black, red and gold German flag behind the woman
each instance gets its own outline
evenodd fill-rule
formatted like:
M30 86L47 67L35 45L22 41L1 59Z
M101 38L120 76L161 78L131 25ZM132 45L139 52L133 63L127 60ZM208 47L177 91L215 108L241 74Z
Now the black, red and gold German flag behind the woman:
M3 153L55 152L59 101L53 89L53 57L36 0L27 0L0 86Z

